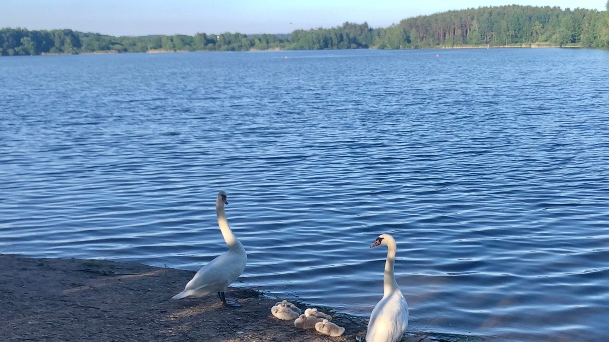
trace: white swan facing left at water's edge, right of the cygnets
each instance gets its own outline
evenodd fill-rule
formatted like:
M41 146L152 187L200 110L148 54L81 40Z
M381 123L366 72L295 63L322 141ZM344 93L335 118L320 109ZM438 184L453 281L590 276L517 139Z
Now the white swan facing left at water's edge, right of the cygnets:
M387 260L383 274L383 296L370 314L366 342L400 341L408 326L408 304L393 275L395 240L389 234L381 234L370 248L387 246Z

